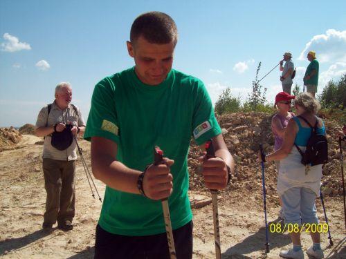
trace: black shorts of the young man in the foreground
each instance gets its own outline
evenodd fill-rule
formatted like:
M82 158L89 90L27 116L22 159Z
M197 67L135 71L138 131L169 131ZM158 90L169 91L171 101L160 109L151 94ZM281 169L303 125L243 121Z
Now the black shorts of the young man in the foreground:
M192 258L192 228L193 223L190 221L173 231L177 259ZM95 239L95 259L170 258L166 233L152 236L122 236L109 233L98 224Z

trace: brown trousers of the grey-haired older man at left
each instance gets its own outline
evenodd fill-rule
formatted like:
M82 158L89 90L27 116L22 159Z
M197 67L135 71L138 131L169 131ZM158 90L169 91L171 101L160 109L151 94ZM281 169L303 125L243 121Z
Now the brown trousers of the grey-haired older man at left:
M62 224L75 216L75 160L44 158L44 187L47 192L44 222Z

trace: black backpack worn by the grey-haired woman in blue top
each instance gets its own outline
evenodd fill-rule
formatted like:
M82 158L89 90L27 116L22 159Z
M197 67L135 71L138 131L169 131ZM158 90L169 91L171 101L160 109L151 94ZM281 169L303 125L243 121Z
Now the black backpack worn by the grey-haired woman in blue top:
M311 136L307 141L307 149L305 153L295 144L295 147L298 149L300 155L302 155L302 164L306 166L316 166L317 164L326 164L328 162L328 142L325 135L317 133L317 124L318 118L316 119L315 126L311 126L307 119L302 116L298 116L307 122L307 124L312 128Z

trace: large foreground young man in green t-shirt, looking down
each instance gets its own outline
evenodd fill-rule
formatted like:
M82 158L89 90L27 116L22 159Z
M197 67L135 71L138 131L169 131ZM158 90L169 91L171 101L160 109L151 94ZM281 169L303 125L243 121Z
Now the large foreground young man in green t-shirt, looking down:
M95 178L107 184L96 228L95 258L169 258L162 199L168 198L177 258L192 258L188 149L212 139L203 162L209 189L224 189L234 161L203 82L172 69L173 19L148 12L131 26L135 66L102 79L93 91L84 138ZM154 146L164 152L154 165ZM149 165L149 166L147 166Z

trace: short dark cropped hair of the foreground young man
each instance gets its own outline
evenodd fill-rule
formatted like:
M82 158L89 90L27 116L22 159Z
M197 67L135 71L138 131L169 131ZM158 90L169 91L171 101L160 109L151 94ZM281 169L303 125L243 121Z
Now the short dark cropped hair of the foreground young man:
M178 30L172 17L163 12L145 12L138 16L131 26L130 41L144 37L151 44L169 44L178 41Z

